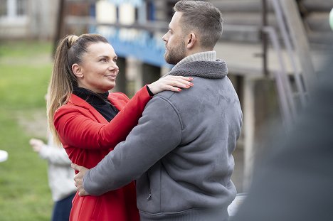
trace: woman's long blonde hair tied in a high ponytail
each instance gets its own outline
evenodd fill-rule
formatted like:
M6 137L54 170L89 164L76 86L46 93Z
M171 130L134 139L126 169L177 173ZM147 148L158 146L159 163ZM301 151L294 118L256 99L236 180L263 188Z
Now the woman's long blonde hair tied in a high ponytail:
M68 102L73 93L73 86L78 86L72 65L82 62L83 55L87 53L91 43L99 42L108 43L106 38L98 34L83 34L81 36L65 36L58 44L46 102L48 127L56 144L61 144L61 142L53 123L54 114L59 107Z

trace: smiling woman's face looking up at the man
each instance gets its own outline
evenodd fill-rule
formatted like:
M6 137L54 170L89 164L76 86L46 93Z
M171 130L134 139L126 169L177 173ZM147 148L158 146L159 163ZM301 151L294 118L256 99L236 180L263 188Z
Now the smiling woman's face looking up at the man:
M104 93L115 87L119 72L117 55L109 43L92 43L83 60L72 66L78 78L78 86L97 93Z

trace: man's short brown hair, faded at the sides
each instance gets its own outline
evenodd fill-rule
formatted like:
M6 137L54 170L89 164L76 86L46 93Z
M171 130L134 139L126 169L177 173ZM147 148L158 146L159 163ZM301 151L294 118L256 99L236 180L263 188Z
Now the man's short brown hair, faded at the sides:
M206 1L181 0L174 12L181 12L181 28L184 33L194 31L199 35L203 48L213 48L222 36L223 18L221 11Z

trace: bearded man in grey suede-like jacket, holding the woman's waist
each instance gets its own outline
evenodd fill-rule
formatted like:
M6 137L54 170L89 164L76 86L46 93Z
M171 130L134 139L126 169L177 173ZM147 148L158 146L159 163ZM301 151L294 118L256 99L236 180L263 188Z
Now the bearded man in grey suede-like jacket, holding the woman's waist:
M166 62L175 65L168 75L194 77L195 86L155 95L126 141L95 168L73 165L81 171L76 185L80 195L100 195L137 180L141 220L228 220L242 112L213 51L221 12L204 1L179 1L174 11L163 36Z

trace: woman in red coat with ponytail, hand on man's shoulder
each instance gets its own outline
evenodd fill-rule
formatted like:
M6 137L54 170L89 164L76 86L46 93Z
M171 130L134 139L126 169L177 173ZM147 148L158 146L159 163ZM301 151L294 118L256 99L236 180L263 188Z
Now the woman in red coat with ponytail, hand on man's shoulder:
M56 50L48 88L48 123L70 160L92 168L137 124L145 104L162 90L189 88L189 77L163 77L132 99L115 87L119 72L112 45L97 34L67 36ZM120 111L121 110L121 111ZM98 197L73 199L70 220L139 220L134 183Z

